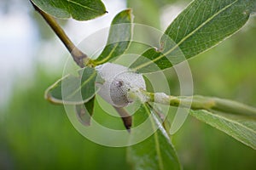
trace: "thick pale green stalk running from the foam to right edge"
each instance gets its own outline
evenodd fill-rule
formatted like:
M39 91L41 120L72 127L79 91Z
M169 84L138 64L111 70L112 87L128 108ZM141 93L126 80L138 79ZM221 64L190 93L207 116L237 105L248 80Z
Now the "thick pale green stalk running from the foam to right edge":
M220 111L234 115L256 117L255 108L229 99L218 99L200 95L172 96L163 93L154 94L148 92L143 94L146 95L148 102L155 102L161 105L180 106L191 110Z

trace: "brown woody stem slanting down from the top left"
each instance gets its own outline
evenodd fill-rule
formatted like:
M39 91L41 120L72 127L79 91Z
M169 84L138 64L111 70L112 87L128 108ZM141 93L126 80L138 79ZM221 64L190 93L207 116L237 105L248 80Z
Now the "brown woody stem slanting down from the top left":
M32 1L30 2L32 3ZM41 16L48 23L51 29L55 31L55 34L61 39L61 42L64 43L77 65L79 65L81 68L83 68L85 65L90 65L89 57L73 44L73 42L69 39L69 37L67 37L67 34L65 33L65 31L63 31L57 21L51 15L44 13L44 11L38 8L35 4L32 3L32 5L35 10L38 11L39 14L41 14Z

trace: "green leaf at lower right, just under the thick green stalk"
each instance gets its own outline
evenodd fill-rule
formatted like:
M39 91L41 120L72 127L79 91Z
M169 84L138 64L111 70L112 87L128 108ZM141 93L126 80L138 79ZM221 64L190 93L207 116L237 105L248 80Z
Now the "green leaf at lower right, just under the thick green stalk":
M256 119L252 116L211 113L209 111L190 111L190 115L216 127L243 144L256 150Z

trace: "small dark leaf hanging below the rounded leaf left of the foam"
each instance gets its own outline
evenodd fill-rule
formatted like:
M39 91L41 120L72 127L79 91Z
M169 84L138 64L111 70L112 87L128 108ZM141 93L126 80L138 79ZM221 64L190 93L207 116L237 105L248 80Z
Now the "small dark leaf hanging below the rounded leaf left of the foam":
M90 126L90 117L92 116L94 111L94 101L95 96L91 98L88 102L75 106L79 122L81 122L84 126Z

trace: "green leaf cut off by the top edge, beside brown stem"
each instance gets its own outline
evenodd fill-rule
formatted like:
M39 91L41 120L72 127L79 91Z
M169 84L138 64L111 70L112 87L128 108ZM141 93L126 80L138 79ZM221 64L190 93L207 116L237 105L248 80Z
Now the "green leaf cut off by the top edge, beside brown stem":
M32 0L32 3L60 19L91 20L106 13L100 0Z

